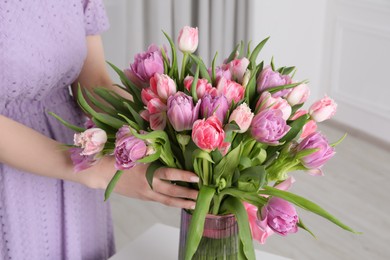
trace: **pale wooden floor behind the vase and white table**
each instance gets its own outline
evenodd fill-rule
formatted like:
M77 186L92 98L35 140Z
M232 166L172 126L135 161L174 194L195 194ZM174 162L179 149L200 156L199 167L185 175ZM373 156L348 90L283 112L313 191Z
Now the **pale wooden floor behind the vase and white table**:
M330 142L344 134L330 126L322 126L322 132ZM350 133L323 170L323 177L294 173L297 181L291 191L318 203L363 234L351 234L300 210L316 239L301 230L287 237L274 235L256 247L296 260L390 259L390 149ZM113 196L111 204L118 250L155 222L172 226L180 222L179 209L121 196Z

